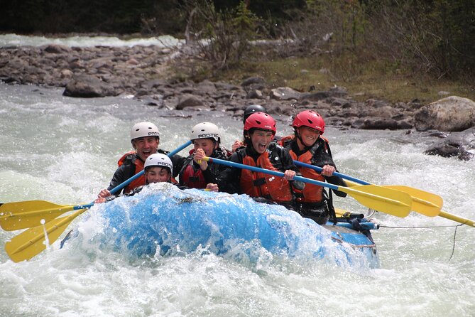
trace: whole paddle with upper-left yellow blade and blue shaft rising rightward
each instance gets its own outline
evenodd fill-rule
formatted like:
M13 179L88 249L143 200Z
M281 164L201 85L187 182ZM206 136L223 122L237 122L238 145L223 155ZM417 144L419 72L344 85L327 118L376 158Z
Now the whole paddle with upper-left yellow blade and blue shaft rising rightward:
M191 141L187 141L185 144L182 144L180 147L174 151L171 151L167 155L173 156L182 151L182 149L185 149L190 144ZM119 192L122 188L129 185L129 183L141 177L143 173L144 171L140 171L127 181L124 181L124 183L112 188L110 190L111 194ZM48 222L62 215L63 213L67 213L68 211L90 208L91 206L92 203L82 205L57 205L44 200L4 203L3 205L0 205L0 226L6 231L35 227L40 225L41 220Z

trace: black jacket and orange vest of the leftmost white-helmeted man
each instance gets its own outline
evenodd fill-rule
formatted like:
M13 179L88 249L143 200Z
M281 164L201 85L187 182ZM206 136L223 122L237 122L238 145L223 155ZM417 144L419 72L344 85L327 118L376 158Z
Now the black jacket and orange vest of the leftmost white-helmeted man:
M168 154L170 152L158 149L157 153ZM175 154L170 159L173 163L173 177L176 177L178 175L178 171L180 171L183 166L183 163L185 162L185 158ZM121 156L121 159L119 159L117 165L119 166L119 168L116 169L114 176L112 176L111 183L109 184L107 190L115 188L121 183L124 183L124 181L127 181L132 176L136 175L136 173L140 173L141 171L143 171L143 161L137 156L135 151L130 151ZM133 188L142 185L145 185L145 176L137 178L119 193L130 193Z

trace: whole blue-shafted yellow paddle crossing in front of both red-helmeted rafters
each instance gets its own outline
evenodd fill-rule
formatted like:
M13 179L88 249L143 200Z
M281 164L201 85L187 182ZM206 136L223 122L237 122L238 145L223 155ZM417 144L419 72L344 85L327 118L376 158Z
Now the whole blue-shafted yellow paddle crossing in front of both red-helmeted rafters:
M244 168L250 171L266 173L274 176L284 176L284 173L282 172L271 171L268 169L234 163L231 161L224 161L210 157L205 157L204 160L226 166ZM315 181L313 179L301 176L295 176L293 179L294 181L302 181L303 183L311 183L317 186L342 191L351 195L351 197L358 200L359 203L366 205L366 207L381 211L382 213L388 213L390 215L395 215L398 217L405 217L410 213L410 195L408 195L407 193L400 192L399 190L393 190L390 188L383 188L380 186L373 185L358 186L357 188L347 188L329 183L324 183L321 181Z

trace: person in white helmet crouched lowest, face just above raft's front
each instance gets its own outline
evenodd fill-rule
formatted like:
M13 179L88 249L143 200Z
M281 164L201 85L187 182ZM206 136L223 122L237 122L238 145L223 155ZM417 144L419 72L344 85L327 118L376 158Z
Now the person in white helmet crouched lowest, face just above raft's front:
M126 196L132 196L136 193L140 193L143 189L143 186L146 186L151 183L173 183L175 186L178 186L180 189L187 189L186 186L180 186L173 178L173 163L168 156L161 153L151 154L145 161L144 164L146 184L134 188L130 193L126 193ZM216 184L209 183L205 187L206 190L218 191L218 186ZM94 203L105 203L107 201L114 200L119 195L109 195L106 198L97 198L94 200Z

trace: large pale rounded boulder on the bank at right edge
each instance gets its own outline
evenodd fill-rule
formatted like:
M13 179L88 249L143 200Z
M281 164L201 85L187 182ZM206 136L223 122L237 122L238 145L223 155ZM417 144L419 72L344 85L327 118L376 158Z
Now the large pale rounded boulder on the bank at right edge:
M475 127L475 102L457 96L447 97L422 107L414 119L417 131L464 131Z

